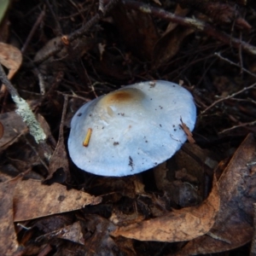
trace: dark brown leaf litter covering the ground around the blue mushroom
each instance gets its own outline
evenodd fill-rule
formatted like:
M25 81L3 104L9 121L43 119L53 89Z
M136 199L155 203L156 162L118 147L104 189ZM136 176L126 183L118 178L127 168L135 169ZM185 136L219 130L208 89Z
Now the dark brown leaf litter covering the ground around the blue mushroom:
M109 2L116 4L111 11ZM256 160L248 134L256 132L256 41L248 31L256 24L256 6L156 2L16 1L7 11L0 61L37 113L46 139L35 143L14 102L2 94L4 255L17 248L19 255L250 250ZM20 49L26 49L23 55ZM183 129L191 144L136 177L96 177L73 166L68 119L83 103L79 99L148 79L183 80L192 92L195 131L183 122L173 127ZM23 180L12 181L20 173Z

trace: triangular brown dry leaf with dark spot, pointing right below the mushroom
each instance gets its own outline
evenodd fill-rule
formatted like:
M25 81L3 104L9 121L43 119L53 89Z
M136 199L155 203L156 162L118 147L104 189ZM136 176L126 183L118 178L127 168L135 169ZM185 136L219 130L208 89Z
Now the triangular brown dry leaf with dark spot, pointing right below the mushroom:
M61 212L78 210L102 201L83 191L70 189L61 184L43 185L37 180L24 180L15 187L15 221L44 217Z

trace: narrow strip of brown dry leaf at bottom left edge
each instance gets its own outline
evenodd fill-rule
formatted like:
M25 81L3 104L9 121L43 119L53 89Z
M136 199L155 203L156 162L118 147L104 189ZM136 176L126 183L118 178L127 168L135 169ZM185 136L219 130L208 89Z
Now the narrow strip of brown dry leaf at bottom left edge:
M13 255L19 244L16 240L14 214L13 214L13 192L16 181L10 180L0 183L0 252L1 255Z

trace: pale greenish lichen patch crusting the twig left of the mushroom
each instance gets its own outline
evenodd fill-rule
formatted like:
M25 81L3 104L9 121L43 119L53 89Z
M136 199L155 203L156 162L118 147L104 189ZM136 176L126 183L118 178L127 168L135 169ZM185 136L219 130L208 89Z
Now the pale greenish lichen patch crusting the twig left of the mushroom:
M17 109L16 113L20 115L23 121L29 128L30 134L35 138L36 143L41 143L46 139L46 135L44 133L43 128L38 123L38 120L35 118L34 113L32 113L31 108L27 104L25 100L23 100L20 96L12 96Z

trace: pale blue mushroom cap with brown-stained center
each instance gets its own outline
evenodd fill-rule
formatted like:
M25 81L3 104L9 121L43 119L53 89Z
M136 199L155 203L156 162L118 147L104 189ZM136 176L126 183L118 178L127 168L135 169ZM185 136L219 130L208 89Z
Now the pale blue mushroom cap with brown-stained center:
M181 119L194 129L196 109L188 90L167 81L131 84L79 108L71 122L69 154L76 166L97 175L143 172L186 141Z

